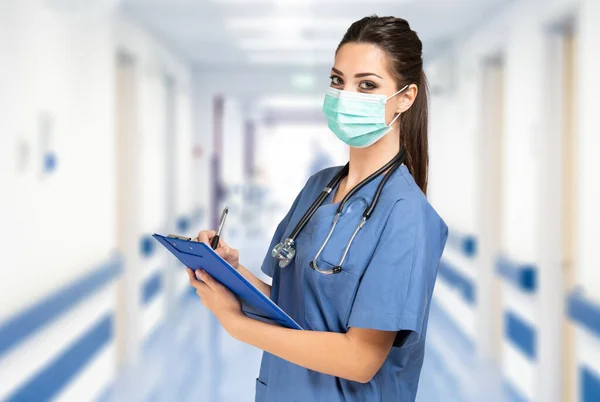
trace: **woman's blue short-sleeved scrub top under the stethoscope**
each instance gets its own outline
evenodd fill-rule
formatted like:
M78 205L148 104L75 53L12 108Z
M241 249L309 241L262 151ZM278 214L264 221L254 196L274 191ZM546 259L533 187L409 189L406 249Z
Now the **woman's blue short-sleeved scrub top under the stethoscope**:
M281 221L262 271L273 278L271 299L303 328L345 333L350 327L399 331L383 366L366 384L309 370L264 353L256 401L414 401L423 365L429 304L448 227L421 192L406 166L386 183L371 218L358 232L339 274L309 267L323 243L339 203L329 195L296 239L296 257L279 268L273 247L289 236L323 187L341 167L311 176ZM336 265L383 176L346 203L321 269Z

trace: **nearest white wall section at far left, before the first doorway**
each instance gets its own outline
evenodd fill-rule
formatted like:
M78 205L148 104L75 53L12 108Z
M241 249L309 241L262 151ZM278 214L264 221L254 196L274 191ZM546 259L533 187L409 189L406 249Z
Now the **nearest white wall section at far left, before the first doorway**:
M0 14L0 320L91 269L115 244L110 25L41 3L4 2ZM39 155L42 112L54 119L51 175ZM22 171L20 144L29 149Z

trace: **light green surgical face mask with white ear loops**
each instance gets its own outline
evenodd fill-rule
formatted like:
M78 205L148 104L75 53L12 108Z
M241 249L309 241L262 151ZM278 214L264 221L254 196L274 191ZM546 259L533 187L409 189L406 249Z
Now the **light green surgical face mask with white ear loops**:
M390 132L400 117L398 114L388 126L385 123L385 104L406 88L408 85L389 97L329 88L323 103L329 129L354 148L366 148L376 143Z

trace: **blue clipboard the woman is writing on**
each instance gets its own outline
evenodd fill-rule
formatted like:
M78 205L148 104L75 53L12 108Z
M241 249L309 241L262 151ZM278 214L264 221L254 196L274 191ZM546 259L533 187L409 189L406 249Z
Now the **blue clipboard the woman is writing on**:
M207 244L163 236L157 233L154 233L152 237L165 246L186 267L193 270L201 268L225 285L241 299L242 310L247 316L271 324L302 329L285 311L273 303L252 283L248 282L242 274L236 271Z

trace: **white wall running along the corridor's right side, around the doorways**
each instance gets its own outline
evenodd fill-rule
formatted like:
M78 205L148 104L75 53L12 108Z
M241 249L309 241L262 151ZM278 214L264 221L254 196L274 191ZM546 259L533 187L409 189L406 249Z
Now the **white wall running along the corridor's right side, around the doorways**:
M480 121L483 83L482 64L486 57L501 52L504 55L505 76L505 132L504 132L504 198L502 251L517 262L540 264L548 245L541 243L539 210L546 207L541 178L552 171L542 163L540 150L547 146L548 136L544 125L545 97L552 96L553 83L547 82L549 27L568 17L575 17L578 27L579 49L576 67L577 128L577 283L595 300L600 294L600 277L594 244L600 239L597 222L600 212L600 149L598 132L600 117L597 113L597 93L600 90L600 3L595 0L554 0L514 2L503 13L486 21L464 38L448 47L456 60L452 77L456 90L433 97L432 100L432 199L436 208L449 223L451 229L477 233L476 174L478 150L476 135L481 132ZM448 60L440 57L438 63ZM445 83L438 83L440 85ZM560 177L556 177L560 180ZM559 219L559 217L556 217ZM539 265L538 265L539 266ZM542 267L546 269L545 266ZM546 272L540 278L547 281ZM560 282L557 282L560 284ZM485 292L488 289L479 289ZM543 300L554 294L561 298L562 291L549 289L544 282L540 294L527 297L504 292L506 308L515 310L537 328L539 363L522 361L518 351L504 353L504 373L511 378L525 396L535 400L549 401L560 395L560 353L549 350L556 340L552 325L556 322L545 316L555 314ZM518 291L517 291L518 292ZM554 292L554 293L551 293ZM547 295L547 296L546 296ZM544 316L544 318L540 318ZM559 319L560 317L556 317ZM579 343L579 342L578 342ZM590 347L592 342L582 342ZM548 358L553 354L555 357ZM597 353L588 350L580 354ZM549 367L552 366L552 367ZM598 368L598 367L597 367ZM542 379L544 379L542 381ZM546 384L546 385L544 385ZM553 387L547 386L552 384ZM554 395L554 396L549 396Z

